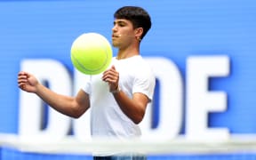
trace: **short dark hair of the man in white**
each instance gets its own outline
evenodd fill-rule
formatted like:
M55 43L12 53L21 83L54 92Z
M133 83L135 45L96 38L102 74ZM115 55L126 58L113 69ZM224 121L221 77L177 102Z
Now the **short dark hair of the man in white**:
M142 39L151 28L151 19L147 11L138 6L124 6L119 8L115 14L115 19L125 19L132 21L133 28L143 28Z

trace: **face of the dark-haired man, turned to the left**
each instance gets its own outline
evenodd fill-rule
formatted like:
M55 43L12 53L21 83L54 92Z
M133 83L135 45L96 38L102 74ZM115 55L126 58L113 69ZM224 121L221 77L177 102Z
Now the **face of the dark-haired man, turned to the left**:
M117 48L123 48L135 40L132 22L125 19L114 20L112 28L112 44Z

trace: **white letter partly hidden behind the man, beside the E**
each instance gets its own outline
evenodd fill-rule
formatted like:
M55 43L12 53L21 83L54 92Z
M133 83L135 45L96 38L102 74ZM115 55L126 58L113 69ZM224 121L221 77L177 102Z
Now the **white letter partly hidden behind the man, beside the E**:
M150 128L151 110L147 108L141 122L142 139L171 140L179 135L182 124L183 84L180 70L168 59L150 57L147 61L159 80L159 124L156 129Z

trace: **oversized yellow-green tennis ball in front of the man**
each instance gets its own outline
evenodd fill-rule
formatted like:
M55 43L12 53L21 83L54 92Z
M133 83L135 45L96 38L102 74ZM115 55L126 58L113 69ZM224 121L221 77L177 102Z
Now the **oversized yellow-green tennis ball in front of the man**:
M85 33L71 46L73 66L86 75L97 75L106 70L112 60L112 48L105 36Z

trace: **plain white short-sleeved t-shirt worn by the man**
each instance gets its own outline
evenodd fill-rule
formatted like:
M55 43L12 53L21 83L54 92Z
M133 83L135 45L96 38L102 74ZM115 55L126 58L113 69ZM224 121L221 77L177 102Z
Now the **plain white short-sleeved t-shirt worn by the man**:
M156 77L148 63L140 55L124 60L112 59L119 72L122 92L132 98L134 92L142 92L152 100ZM102 74L90 76L85 82L84 92L90 94L91 133L93 137L127 139L140 136L140 127L124 115L111 92L108 83L101 80Z

